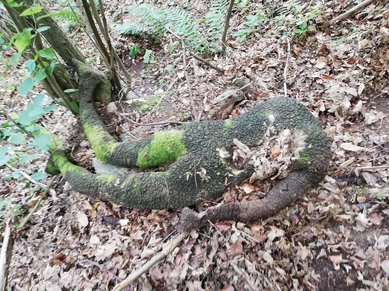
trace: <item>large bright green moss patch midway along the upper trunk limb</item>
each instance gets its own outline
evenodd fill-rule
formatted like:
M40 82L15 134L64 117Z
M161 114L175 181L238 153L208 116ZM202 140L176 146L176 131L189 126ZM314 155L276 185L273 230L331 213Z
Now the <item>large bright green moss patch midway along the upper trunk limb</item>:
M139 151L136 165L145 168L158 166L165 162L176 161L185 153L186 147L182 142L181 131L156 132L150 144Z

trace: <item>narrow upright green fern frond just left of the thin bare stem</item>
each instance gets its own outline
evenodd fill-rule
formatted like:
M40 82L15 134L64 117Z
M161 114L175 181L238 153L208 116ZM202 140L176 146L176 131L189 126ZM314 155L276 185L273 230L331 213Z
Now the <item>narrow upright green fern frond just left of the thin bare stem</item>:
M204 16L207 26L207 36L211 41L217 41L223 32L224 19L226 17L229 0L214 0L211 3L210 12Z

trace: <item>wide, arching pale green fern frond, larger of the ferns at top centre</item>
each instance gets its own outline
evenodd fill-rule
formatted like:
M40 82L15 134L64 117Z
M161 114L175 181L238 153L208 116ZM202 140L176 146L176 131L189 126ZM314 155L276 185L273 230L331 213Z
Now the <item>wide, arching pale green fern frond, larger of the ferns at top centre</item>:
M198 24L184 10L141 4L129 6L128 12L130 21L115 26L120 33L158 36L169 24L174 32L182 36L196 50L203 50L209 45L201 34Z

